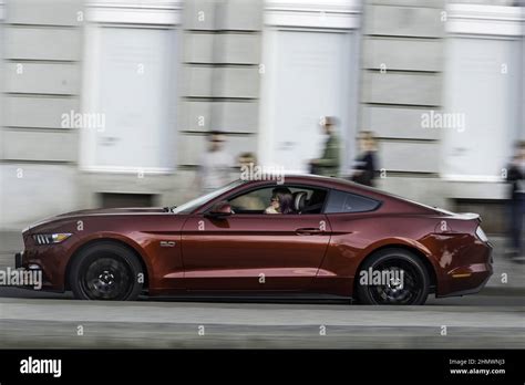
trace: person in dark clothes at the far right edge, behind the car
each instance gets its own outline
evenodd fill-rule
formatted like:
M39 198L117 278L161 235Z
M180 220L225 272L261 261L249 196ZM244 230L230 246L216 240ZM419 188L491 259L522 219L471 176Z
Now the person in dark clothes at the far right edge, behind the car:
M523 258L525 254L523 219L525 217L525 141L516 145L507 171L511 183L511 241L514 253Z

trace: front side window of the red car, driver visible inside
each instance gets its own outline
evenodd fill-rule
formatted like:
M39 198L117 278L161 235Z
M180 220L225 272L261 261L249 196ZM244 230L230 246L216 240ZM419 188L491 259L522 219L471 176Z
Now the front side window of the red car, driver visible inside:
M228 201L236 214L320 214L326 195L323 189L274 185L248 191ZM286 202L279 202L279 197Z

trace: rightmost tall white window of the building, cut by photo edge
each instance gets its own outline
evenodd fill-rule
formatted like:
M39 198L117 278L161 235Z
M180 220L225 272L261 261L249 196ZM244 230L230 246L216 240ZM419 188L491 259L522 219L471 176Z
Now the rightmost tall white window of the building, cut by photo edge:
M451 4L449 15L444 113L461 124L442 129L442 175L498 181L523 132L521 9Z

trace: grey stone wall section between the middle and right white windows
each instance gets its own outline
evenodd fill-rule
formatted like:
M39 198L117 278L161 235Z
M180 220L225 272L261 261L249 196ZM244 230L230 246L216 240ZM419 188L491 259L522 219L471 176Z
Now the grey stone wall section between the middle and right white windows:
M445 18L442 0L366 0L360 92L360 129L379 139L379 187L440 206L440 131L422 123L442 108Z

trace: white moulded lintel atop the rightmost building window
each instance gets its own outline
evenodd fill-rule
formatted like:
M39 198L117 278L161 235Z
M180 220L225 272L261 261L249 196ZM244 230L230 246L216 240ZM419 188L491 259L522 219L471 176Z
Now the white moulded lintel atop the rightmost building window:
M523 7L449 4L447 33L522 37Z

